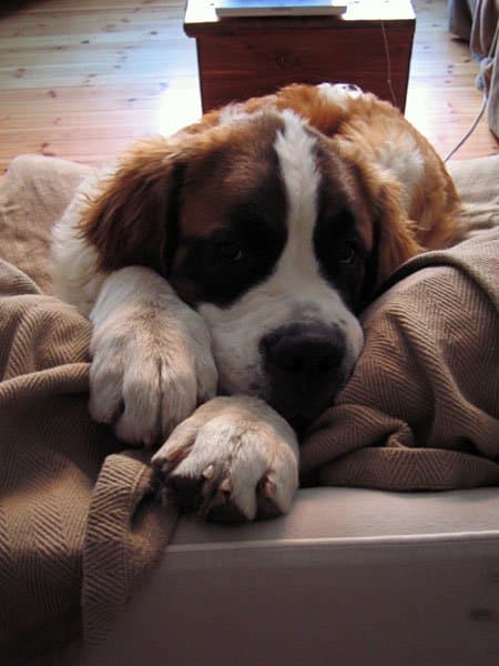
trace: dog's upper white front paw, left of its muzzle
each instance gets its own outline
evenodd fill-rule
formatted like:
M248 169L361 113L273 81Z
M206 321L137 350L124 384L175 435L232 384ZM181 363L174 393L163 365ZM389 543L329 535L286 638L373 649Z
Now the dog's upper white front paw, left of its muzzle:
M195 312L182 316L180 326L161 307L124 309L95 327L90 413L120 440L152 445L215 395L208 332Z

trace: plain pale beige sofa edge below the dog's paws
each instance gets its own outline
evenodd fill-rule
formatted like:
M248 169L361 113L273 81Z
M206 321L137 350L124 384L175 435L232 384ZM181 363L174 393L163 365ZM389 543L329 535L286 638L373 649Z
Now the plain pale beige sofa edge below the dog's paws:
M498 488L305 488L275 521L183 518L94 663L492 664L498 552Z

